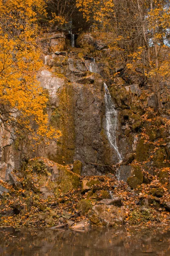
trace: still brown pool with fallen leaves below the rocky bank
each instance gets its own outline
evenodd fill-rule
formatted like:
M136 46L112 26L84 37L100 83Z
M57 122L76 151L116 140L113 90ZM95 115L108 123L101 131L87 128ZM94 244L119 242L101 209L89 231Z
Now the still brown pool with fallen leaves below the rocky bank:
M170 256L170 227L0 229L0 256Z

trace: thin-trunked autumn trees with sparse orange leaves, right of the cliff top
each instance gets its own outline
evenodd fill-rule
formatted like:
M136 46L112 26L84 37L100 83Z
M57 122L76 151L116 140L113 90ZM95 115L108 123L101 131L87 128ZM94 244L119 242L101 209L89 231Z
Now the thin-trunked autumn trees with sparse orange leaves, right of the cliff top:
M143 81L152 85L155 109L160 111L161 82L169 73L170 5L167 0L77 0L86 19L109 32L110 49L119 49L123 69L143 69ZM137 75L137 74L136 74Z

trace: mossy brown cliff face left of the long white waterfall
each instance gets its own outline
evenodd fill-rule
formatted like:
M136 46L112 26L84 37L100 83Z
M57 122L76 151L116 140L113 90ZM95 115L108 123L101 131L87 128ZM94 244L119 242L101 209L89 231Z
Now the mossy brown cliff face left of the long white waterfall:
M0 171L3 179L8 179L11 169L20 167L26 154L29 158L47 157L63 165L80 160L84 175L105 173L109 171L107 166L118 161L105 131L102 68L91 58L85 60L81 48L69 47L64 51L66 41L63 32L41 38L44 67L37 75L49 95L49 122L62 131L62 137L57 143L43 143L36 153L29 145L16 148L13 140L4 144Z

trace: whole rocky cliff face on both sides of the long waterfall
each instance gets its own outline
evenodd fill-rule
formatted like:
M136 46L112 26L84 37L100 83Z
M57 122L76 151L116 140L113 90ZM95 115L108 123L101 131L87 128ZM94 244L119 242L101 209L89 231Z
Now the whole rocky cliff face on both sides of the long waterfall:
M133 78L134 81L126 85L120 73L120 79L110 86L109 69L102 61L110 54L107 45L101 40L95 41L90 33L83 33L77 39L79 48L71 47L64 32L47 33L39 44L44 66L37 79L49 96L46 110L49 122L62 132L62 137L50 145L42 143L33 152L26 142L16 143L10 134L2 136L0 177L3 180L8 180L12 169L20 168L24 157L46 157L62 165L80 160L83 164L82 175L111 172L109 166L120 159L108 140L104 81L108 84L116 109L115 141L122 159L125 158L122 165L130 164L136 157L146 171L167 167L170 155L168 128L163 118L157 120L157 128L153 128L154 120L145 122L140 117L144 114L144 106L150 107L152 98L149 96L147 102L143 100L144 106L139 101L139 96L147 91L147 88L144 88L145 92L139 88L140 81L136 84ZM92 53L89 51L91 48ZM114 116L111 118L114 119ZM146 132L143 137L142 128ZM144 136L150 138L150 144L145 143ZM165 140L165 143L154 151L153 142L156 140ZM126 168L118 170L120 179L128 177L122 170Z

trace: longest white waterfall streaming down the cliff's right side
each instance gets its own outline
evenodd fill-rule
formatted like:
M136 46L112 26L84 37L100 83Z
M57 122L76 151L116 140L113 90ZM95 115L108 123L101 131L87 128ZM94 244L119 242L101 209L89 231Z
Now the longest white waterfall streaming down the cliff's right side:
M121 154L116 143L116 126L117 126L117 111L111 99L111 94L109 93L107 85L104 83L105 87L105 105L106 105L106 133L108 140L112 147L115 149L116 154L119 158L119 162L122 161Z

